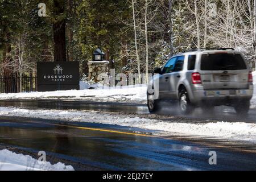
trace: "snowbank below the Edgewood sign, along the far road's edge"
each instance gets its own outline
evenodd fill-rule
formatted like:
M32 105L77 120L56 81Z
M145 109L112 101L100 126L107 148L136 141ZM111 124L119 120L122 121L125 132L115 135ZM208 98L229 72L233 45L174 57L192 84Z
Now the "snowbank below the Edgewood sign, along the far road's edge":
M86 85L83 86L86 88ZM30 99L30 98L64 98L64 99L97 99L103 101L146 101L146 85L131 85L113 87L113 88L97 88L84 90L65 90L54 92L29 92L29 93L2 93L0 99Z

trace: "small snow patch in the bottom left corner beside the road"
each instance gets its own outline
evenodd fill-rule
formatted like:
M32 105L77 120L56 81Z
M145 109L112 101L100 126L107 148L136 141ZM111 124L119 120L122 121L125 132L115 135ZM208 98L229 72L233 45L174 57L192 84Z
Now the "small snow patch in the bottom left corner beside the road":
M0 151L0 171L74 171L72 166L63 163L52 165L41 163L29 155L16 154L9 150Z

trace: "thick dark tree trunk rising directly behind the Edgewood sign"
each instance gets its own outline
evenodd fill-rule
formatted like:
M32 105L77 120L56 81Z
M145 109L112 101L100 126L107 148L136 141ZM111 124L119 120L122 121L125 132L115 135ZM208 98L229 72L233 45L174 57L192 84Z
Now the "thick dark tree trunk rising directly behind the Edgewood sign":
M55 61L66 61L66 33L65 33L65 18L63 16L65 10L64 0L54 0L55 15L58 20L53 23L53 40L54 40L54 60Z

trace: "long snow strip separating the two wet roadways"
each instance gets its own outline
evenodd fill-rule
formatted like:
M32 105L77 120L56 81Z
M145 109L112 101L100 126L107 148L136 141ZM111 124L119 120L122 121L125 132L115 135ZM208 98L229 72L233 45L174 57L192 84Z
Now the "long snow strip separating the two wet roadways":
M0 115L60 119L61 121L104 123L138 127L148 130L160 130L161 134L196 135L201 137L217 137L229 140L242 140L256 143L256 124L244 122L201 122L180 123L129 117L128 115L102 114L98 111L85 110L27 110L18 107L0 107ZM159 134L159 133L156 133Z

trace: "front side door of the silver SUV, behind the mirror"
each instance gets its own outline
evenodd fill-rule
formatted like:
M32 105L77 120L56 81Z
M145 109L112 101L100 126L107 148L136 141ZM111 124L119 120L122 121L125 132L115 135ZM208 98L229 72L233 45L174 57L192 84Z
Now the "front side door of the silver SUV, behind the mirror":
M162 69L162 74L159 76L159 95L160 98L170 97L170 73L174 69L176 57L171 58Z

